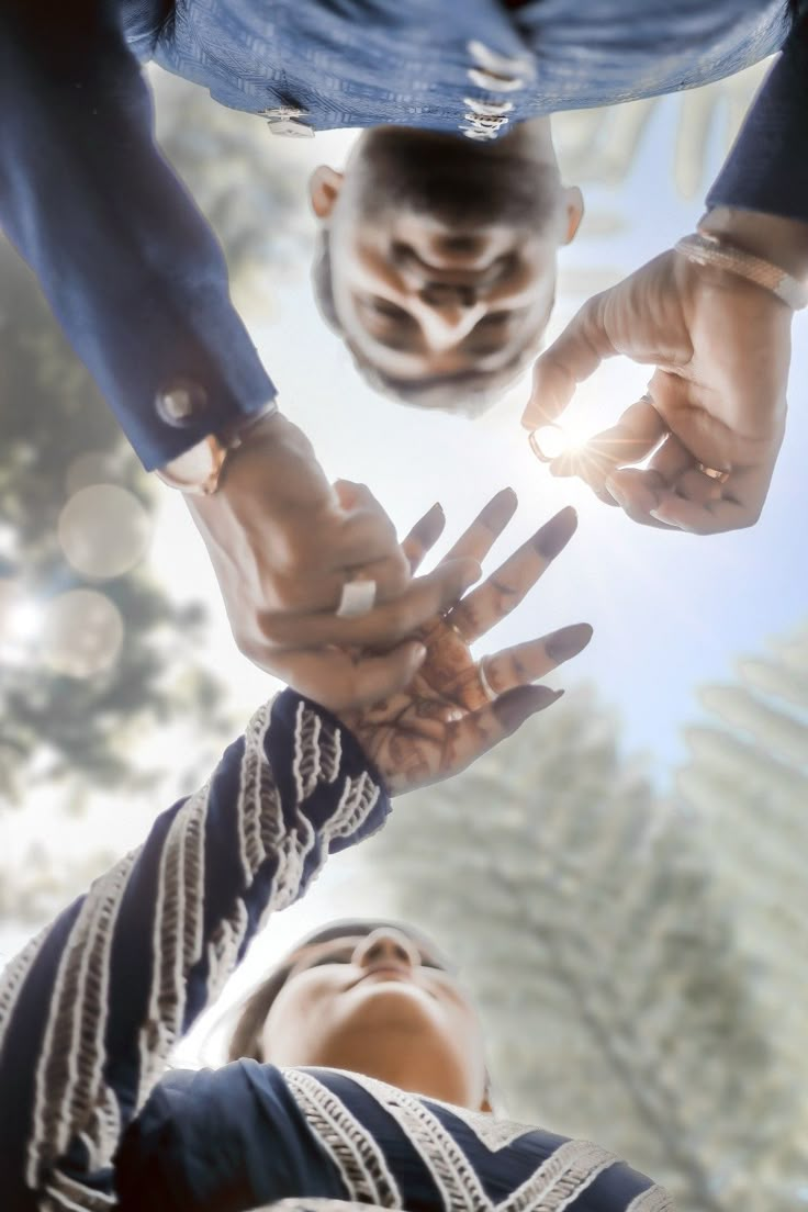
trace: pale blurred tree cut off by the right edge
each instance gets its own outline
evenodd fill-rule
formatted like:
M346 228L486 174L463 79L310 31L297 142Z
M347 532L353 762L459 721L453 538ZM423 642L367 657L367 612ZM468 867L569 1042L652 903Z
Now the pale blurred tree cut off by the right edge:
M732 905L744 979L770 1023L780 1068L798 1092L808 1139L808 625L737 662L738 680L706 686L711 716L686 731L682 799L703 821L714 877ZM802 1159L803 1199L808 1157Z

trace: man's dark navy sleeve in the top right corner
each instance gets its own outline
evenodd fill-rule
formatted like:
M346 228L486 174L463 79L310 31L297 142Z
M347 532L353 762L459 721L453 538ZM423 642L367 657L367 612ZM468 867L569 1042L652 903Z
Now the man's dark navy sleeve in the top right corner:
M808 223L808 16L755 98L707 206Z

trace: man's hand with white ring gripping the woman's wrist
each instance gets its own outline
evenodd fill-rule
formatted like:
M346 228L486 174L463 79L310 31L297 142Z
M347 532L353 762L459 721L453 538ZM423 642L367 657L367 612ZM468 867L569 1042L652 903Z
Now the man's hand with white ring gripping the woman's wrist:
M413 631L480 572L454 560L412 581L372 493L344 481L332 487L308 439L277 413L228 457L217 493L185 499L241 652L334 710L406 685L420 659ZM343 585L357 573L376 582L377 605L338 618ZM349 644L373 651L357 657Z

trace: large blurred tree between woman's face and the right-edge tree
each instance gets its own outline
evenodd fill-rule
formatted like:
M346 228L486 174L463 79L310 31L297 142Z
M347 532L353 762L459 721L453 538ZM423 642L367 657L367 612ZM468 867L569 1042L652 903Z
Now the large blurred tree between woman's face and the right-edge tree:
M793 1096L699 841L579 694L408 796L365 858L459 957L509 1115L613 1148L682 1212L785 1212Z

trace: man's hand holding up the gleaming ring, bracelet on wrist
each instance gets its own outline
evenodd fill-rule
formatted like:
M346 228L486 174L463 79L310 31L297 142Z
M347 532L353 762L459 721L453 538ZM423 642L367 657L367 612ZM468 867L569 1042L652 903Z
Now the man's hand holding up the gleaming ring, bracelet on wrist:
M750 238L750 222L756 233L769 230L767 216L714 230L789 269L779 245L773 256L766 240ZM787 225L772 221L779 238ZM808 233L807 224L792 228ZM806 233L797 233L802 241ZM647 395L583 448L554 459L551 471L580 475L644 525L700 534L751 526L785 429L791 314L738 275L663 253L591 298L539 358L522 424L554 422L604 358L657 366ZM631 465L648 456L644 468ZM703 468L729 474L721 482Z

